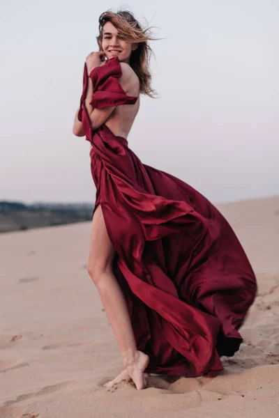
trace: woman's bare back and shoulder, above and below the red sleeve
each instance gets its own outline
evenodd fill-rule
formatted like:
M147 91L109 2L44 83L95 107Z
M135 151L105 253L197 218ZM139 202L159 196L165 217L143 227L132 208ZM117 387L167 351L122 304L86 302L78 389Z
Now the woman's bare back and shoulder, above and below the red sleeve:
M128 95L137 96L138 99L135 104L116 106L112 114L107 118L105 125L114 135L127 139L140 108L140 81L130 65L121 63L121 70L122 76L119 79L119 83L123 90Z

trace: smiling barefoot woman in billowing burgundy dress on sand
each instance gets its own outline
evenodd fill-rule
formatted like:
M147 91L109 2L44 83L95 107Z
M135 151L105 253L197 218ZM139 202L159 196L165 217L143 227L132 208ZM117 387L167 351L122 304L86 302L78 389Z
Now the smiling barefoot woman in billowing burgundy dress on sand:
M108 385L147 373L215 376L234 355L257 290L239 240L218 210L174 176L142 164L127 137L140 93L153 95L148 31L106 12L84 64L73 132L91 142L96 185L88 270L123 358Z

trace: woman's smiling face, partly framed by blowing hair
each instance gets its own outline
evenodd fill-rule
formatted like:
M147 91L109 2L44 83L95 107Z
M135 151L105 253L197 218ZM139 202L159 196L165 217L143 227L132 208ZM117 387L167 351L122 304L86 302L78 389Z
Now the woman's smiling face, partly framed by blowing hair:
M107 59L118 56L119 61L123 63L129 63L132 51L137 49L136 44L121 39L118 30L111 22L103 26L101 46Z

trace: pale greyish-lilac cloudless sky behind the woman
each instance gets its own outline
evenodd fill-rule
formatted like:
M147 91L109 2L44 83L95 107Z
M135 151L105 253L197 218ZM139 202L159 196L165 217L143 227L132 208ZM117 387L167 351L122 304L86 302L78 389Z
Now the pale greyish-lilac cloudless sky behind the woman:
M10 0L1 6L0 200L92 202L72 133L98 17L126 6L155 34L153 86L128 138L142 162L213 203L279 192L278 0Z

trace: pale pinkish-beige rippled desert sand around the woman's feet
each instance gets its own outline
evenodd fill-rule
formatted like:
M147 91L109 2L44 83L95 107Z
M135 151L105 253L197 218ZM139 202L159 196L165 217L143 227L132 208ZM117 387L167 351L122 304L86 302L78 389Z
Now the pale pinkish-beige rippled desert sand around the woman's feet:
M102 387L121 358L86 272L90 224L0 236L0 418L278 417L279 196L219 206L257 273L244 343L216 378ZM277 397L276 397L277 395Z

